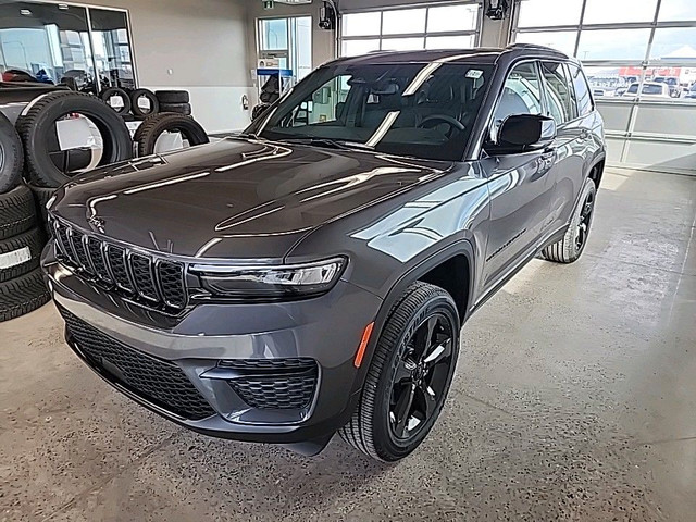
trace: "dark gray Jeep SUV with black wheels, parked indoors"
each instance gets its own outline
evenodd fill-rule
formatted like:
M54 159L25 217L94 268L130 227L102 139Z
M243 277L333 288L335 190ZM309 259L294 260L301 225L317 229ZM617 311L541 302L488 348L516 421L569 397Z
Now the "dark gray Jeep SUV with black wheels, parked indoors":
M63 186L42 268L70 346L145 407L395 461L433 427L469 316L535 256L580 257L604 162L557 51L345 58L239 136Z

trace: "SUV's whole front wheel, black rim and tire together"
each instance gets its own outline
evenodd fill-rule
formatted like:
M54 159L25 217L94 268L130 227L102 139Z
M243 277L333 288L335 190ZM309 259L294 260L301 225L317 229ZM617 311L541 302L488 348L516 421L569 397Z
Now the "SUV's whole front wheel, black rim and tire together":
M395 462L425 439L445 405L459 356L459 312L443 288L417 281L391 306L360 401L339 430L373 459ZM373 349L374 352L370 353Z

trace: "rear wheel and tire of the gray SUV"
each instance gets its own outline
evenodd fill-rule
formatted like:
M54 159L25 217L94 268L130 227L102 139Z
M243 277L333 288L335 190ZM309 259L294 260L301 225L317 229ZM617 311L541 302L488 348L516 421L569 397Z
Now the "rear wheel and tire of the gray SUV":
M573 263L580 259L589 237L596 199L597 188L595 187L595 182L585 179L577 208L573 211L566 235L560 241L542 250L544 259L566 264Z

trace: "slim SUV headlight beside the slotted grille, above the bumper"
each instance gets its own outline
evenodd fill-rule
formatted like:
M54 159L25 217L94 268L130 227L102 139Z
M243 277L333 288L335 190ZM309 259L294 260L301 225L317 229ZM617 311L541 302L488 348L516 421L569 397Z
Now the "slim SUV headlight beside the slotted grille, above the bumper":
M215 296L250 298L308 297L328 291L338 281L346 258L304 264L268 266L191 266Z

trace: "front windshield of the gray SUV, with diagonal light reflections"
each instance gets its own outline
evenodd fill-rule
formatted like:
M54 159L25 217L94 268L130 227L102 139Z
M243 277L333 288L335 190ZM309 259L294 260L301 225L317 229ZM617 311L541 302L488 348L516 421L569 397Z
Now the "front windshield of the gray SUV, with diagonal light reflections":
M246 133L457 161L492 74L490 65L443 61L330 64L298 84Z

